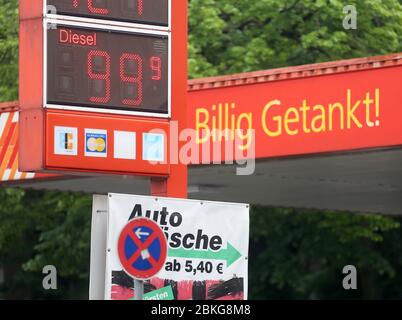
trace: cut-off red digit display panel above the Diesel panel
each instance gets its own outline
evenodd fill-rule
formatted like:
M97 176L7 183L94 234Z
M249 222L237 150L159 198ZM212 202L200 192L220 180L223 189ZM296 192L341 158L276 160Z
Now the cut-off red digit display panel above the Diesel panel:
M168 26L169 0L48 0L57 14Z

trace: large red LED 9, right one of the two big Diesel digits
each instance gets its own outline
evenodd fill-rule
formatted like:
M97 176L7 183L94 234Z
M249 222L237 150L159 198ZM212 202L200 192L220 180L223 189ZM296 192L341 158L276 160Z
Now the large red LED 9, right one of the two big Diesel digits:
M137 64L137 76L126 75L126 61L132 60ZM122 103L129 106L139 106L142 103L142 80L143 68L142 58L138 54L123 53L120 57L120 79L123 83L132 83L137 85L137 98L136 99L123 99Z

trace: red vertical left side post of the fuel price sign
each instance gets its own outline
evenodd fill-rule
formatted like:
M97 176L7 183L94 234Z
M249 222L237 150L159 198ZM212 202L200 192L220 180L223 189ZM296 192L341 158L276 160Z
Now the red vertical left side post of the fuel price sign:
M44 163L42 11L42 0L20 0L19 170L25 172Z

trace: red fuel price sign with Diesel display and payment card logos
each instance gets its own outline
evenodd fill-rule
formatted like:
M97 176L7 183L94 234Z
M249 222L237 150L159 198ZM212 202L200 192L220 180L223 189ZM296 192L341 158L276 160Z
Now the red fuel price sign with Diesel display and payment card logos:
M19 0L19 15L21 172L185 169L168 151L187 121L187 1Z

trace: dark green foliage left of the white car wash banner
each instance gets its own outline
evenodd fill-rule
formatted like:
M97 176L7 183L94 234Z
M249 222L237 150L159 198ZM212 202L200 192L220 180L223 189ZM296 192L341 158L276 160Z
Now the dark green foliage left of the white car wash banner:
M0 266L6 298L88 296L90 196L0 191ZM60 290L42 288L42 269L57 267Z

